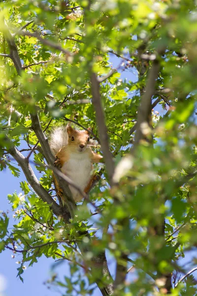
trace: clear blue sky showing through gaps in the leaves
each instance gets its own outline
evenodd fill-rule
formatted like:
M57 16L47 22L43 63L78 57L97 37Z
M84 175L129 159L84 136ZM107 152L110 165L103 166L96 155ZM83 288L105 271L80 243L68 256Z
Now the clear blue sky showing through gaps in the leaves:
M110 55L110 61L113 67L117 67L120 65L121 59L115 57L114 55ZM136 71L133 72L132 69L128 69L124 72L121 72L121 78L131 80L135 82L137 80ZM157 109L156 109L157 110ZM157 110L161 111L161 110ZM26 148L26 147L21 147ZM7 194L12 194L14 191L17 193L21 192L20 182L25 180L25 176L21 173L19 178L14 177L11 172L7 169L1 172L1 198L0 198L0 210L9 211L8 217L10 218L9 227L14 223L14 219L12 218L13 212L11 210L11 206L8 204ZM37 263L33 264L33 267L27 268L24 271L23 278L24 283L22 283L19 278L16 278L17 275L17 267L19 265L16 264L16 261L21 259L21 256L16 256L14 259L11 258L12 252L6 250L0 254L0 296L13 296L18 295L20 292L20 296L60 296L60 293L55 291L54 289L48 290L46 285L43 283L50 278L50 268L54 263L53 259L47 259L42 256L38 259ZM181 263L185 265L189 262L192 257L195 256L195 253L190 252L186 255L184 259L181 259ZM107 258L109 261L109 268L114 275L115 273L115 264L112 258L110 258L107 253ZM187 266L186 266L187 267ZM188 270L190 267L188 265ZM56 271L63 277L69 273L69 267L66 261L64 261ZM194 273L197 275L197 272ZM129 274L128 279L132 280L135 275ZM2 285L4 283L4 287ZM96 290L94 296L100 296L99 290Z

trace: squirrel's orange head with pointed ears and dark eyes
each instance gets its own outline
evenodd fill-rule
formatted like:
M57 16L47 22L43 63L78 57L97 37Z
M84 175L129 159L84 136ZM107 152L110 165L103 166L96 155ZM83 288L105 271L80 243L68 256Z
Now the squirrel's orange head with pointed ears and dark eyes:
M91 128L88 128L91 131ZM73 129L70 125L67 126L68 145L76 148L77 151L83 152L90 141L90 134L88 131L78 131Z

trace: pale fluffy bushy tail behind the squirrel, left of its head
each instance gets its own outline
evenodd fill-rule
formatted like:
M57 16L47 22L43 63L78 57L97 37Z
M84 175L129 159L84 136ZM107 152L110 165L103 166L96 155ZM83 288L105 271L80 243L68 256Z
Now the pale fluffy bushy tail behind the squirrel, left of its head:
M51 131L49 145L55 154L68 143L66 126L56 127Z

